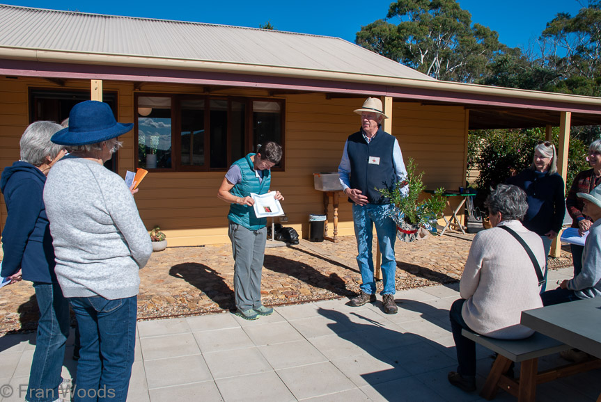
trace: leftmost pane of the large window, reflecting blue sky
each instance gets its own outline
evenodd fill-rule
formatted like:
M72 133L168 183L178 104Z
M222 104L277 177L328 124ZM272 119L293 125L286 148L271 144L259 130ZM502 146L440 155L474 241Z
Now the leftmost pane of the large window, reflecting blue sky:
M171 168L171 98L138 98L138 166Z

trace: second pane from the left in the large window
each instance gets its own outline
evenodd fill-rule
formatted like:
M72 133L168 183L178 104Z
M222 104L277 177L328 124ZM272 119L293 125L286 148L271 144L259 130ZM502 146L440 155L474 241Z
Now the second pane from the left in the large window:
M181 164L205 164L205 100L182 101Z

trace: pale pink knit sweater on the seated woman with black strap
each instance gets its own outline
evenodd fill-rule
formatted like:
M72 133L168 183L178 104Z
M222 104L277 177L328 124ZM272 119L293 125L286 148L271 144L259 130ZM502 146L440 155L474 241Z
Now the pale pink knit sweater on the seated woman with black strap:
M545 270L545 251L540 236L518 220L506 220L531 248ZM479 232L469 249L460 282L467 301L462 316L478 334L498 339L522 339L533 330L520 325L523 310L543 307L533 264L516 239L500 227Z

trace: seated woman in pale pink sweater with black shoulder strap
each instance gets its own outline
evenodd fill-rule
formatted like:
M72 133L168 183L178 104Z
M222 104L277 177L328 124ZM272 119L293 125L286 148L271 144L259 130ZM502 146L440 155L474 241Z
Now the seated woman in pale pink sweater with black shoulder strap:
M523 339L534 331L520 325L522 311L543 307L533 260L514 237L524 241L544 270L543 241L520 223L528 209L526 193L499 184L486 207L493 227L474 237L460 281L461 298L450 311L458 369L448 373L448 381L467 392L476 390L476 344L461 335L462 328L497 339Z

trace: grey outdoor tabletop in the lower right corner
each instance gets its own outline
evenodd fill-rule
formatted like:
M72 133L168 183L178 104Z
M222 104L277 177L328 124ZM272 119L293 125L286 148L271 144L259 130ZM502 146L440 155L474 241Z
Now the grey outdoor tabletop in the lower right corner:
M523 325L601 358L601 298L588 298L522 312Z

